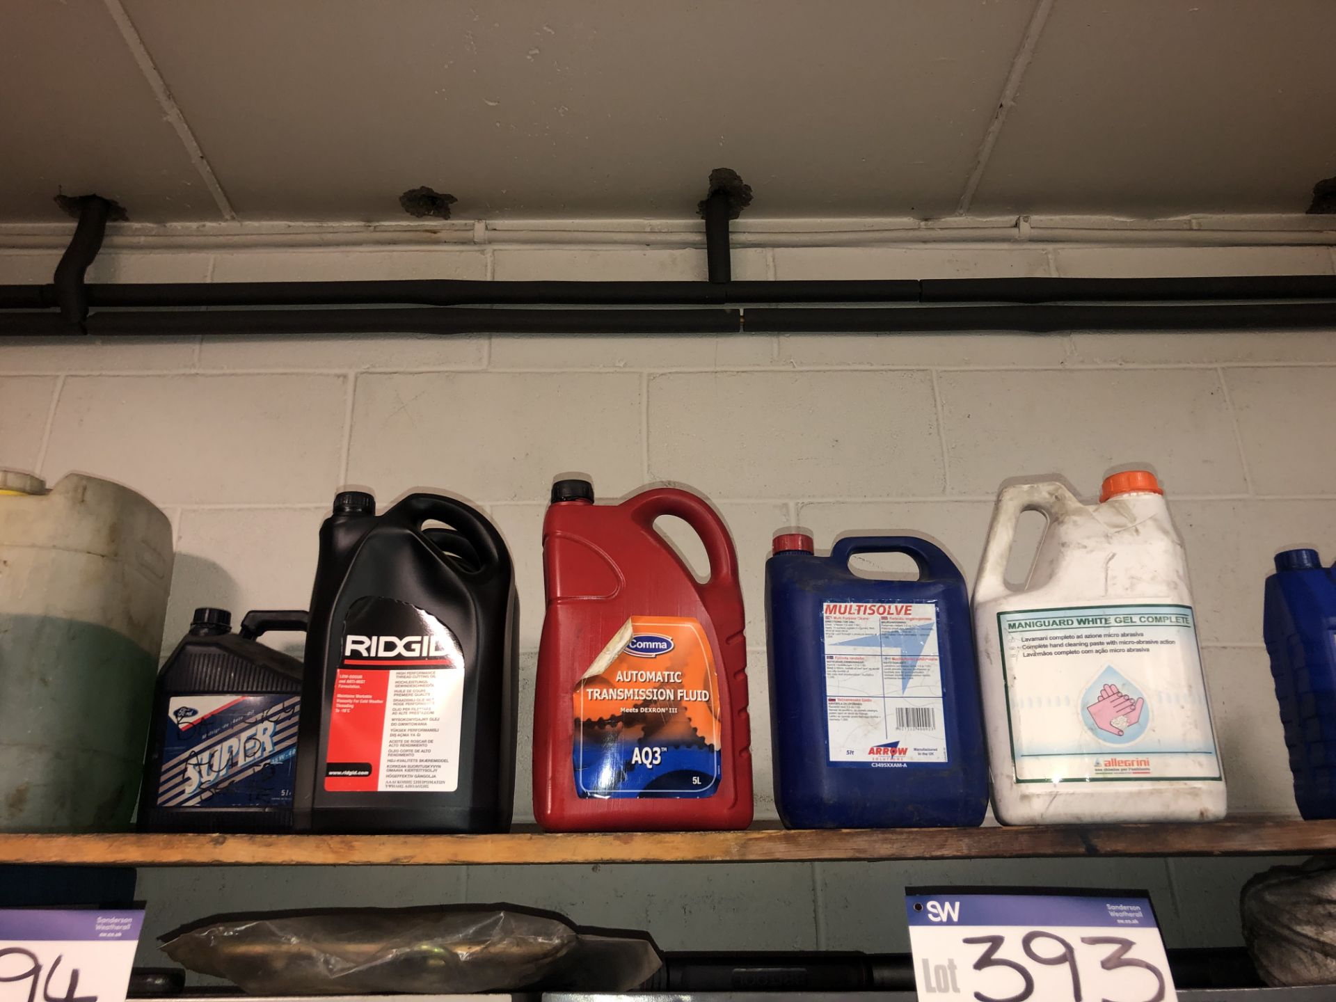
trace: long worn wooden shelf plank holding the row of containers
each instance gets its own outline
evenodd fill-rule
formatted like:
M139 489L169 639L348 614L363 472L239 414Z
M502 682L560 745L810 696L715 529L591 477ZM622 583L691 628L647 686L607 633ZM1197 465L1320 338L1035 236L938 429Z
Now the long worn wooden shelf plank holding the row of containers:
M442 866L1336 852L1336 822L546 835L3 835L0 863Z

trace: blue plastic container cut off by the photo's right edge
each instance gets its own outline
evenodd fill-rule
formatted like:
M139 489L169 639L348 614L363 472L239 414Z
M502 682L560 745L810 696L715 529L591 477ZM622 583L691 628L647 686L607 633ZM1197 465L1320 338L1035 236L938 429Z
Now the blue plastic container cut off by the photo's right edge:
M1315 549L1276 554L1263 636L1304 818L1336 818L1336 566Z

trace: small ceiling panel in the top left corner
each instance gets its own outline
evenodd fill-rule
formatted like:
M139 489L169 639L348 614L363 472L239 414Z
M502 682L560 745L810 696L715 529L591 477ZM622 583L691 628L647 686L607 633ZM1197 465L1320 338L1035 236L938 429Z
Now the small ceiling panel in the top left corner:
M5 0L0 94L0 219L63 219L57 191L138 222L218 218L103 4Z

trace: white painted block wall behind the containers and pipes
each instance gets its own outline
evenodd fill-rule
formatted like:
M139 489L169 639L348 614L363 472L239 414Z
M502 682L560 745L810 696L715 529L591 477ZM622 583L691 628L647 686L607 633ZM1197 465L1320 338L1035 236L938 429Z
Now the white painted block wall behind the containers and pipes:
M0 251L0 282L49 251ZM743 278L1331 274L1328 247L1073 244L748 247ZM448 244L107 253L102 281L703 278L695 248ZM922 532L973 578L1005 477L1086 494L1149 464L1186 537L1232 812L1293 814L1265 652L1275 550L1336 557L1336 333L728 338L228 338L0 342L0 465L136 488L171 516L164 653L202 604L305 607L315 532L345 485L445 489L497 521L518 568L524 707L542 609L540 522L557 473L604 498L651 481L705 493L748 608L758 816L774 818L762 568L771 533ZM287 641L294 643L294 641ZM894 839L894 834L887 835ZM212 911L512 900L649 929L665 949L904 949L906 883L1149 887L1172 945L1238 941L1265 860L143 871L150 929ZM150 946L143 962L159 961Z

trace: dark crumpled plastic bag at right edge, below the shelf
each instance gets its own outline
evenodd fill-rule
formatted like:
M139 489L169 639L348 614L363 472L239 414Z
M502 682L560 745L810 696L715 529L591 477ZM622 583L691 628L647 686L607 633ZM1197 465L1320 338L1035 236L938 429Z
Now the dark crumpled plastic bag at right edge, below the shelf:
M1244 943L1273 987L1336 985L1336 860L1257 874L1242 890Z

